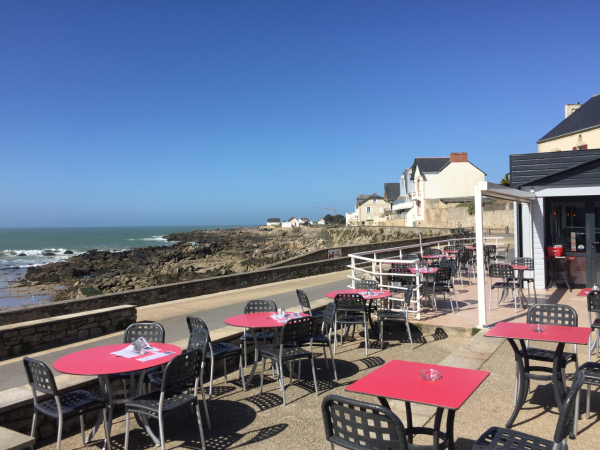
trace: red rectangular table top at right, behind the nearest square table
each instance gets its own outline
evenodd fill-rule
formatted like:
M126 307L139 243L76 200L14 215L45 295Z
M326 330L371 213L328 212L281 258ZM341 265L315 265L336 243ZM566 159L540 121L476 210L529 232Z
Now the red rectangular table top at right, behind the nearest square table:
M528 323L500 322L494 325L485 336L530 341L564 342L565 344L587 344L591 328L565 327L561 325L545 325L546 330L537 332L531 330Z

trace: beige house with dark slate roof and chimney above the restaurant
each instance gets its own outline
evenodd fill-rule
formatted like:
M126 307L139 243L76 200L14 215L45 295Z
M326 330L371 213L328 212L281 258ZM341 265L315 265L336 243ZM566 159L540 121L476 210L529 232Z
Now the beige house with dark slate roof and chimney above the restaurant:
M600 148L600 95L565 105L565 119L537 144L538 153Z

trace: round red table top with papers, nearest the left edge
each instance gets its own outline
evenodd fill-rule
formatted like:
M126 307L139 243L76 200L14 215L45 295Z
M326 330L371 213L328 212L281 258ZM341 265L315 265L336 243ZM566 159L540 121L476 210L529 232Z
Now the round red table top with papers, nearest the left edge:
M134 370L149 369L150 367L166 364L177 355L181 355L181 348L177 345L150 343L152 347L163 351L175 352L172 355L138 361L138 358L123 358L111 355L112 352L122 350L129 344L104 345L102 347L88 348L75 353L70 353L54 361L54 368L62 373L71 375L110 375L113 373L133 372Z

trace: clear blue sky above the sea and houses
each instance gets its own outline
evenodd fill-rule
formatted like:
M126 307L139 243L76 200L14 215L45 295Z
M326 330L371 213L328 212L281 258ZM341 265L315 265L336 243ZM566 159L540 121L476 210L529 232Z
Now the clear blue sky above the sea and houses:
M353 211L600 93L600 3L0 1L0 227Z

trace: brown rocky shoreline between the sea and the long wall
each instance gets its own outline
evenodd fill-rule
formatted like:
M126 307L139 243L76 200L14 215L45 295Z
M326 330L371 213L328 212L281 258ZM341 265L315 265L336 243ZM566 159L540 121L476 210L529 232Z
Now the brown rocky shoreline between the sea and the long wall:
M192 281L256 270L314 250L415 237L413 231L369 228L235 228L165 236L172 246L91 250L32 267L13 287L62 286L53 300Z

